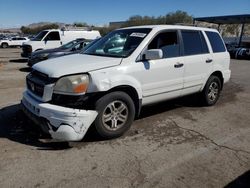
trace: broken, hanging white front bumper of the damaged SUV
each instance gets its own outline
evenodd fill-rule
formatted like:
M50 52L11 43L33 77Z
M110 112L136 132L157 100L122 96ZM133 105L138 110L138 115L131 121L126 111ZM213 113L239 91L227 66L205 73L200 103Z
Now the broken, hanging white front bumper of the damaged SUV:
M48 132L52 139L58 141L82 140L97 116L94 110L65 108L38 102L27 91L23 93L21 103L25 114L35 123L43 126L42 129Z

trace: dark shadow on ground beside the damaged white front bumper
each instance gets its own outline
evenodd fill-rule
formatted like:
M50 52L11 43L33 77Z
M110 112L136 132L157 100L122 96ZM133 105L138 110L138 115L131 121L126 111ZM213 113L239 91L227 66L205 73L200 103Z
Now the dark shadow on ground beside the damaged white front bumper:
M20 105L12 105L0 110L0 138L37 147L38 150L60 150L70 148L68 143L45 143L47 138L38 126L31 122L21 111Z

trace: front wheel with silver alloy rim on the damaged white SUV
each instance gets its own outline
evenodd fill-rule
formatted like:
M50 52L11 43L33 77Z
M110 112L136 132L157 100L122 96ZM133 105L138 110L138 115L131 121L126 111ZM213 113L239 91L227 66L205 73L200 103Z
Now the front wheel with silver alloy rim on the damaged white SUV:
M100 98L95 105L98 115L94 121L97 133L104 139L123 135L135 118L135 105L124 92L112 92Z

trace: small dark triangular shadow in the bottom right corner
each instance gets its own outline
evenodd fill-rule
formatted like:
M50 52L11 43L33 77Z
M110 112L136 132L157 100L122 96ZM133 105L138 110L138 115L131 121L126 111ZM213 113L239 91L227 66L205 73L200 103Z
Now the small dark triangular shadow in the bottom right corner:
M249 188L250 187L250 170L237 177L224 188Z

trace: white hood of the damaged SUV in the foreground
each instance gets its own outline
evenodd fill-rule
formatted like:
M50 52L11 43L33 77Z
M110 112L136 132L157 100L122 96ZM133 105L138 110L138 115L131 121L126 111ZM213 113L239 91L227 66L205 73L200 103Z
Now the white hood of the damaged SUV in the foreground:
M64 75L117 66L121 61L122 58L73 54L42 61L35 64L32 68L47 74L49 77L58 78Z

